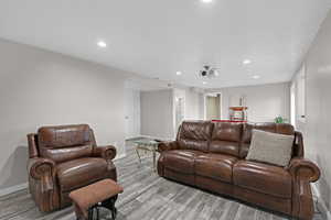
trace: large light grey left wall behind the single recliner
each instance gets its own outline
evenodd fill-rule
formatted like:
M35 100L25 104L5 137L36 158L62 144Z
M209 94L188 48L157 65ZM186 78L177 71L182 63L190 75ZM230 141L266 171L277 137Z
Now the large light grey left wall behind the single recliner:
M26 182L26 134L88 123L124 153L124 72L0 40L0 189Z

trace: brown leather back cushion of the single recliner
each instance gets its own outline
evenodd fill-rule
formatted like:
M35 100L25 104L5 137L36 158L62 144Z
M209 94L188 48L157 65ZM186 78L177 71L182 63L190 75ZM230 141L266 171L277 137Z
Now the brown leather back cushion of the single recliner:
M87 124L43 127L38 136L41 157L56 163L90 156L95 145Z

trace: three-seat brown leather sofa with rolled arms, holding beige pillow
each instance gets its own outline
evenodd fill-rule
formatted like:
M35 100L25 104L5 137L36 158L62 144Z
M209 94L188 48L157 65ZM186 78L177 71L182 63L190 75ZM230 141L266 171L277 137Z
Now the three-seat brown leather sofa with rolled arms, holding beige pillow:
M246 161L252 130L295 135L288 167ZM303 158L302 135L290 124L183 122L177 141L161 143L158 173L299 219L311 219L310 183L319 168Z

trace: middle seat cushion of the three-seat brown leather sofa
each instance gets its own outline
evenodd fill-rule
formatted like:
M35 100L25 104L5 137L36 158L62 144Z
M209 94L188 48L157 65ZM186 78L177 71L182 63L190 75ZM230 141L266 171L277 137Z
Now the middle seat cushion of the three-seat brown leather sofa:
M201 154L195 158L195 174L226 183L232 183L234 156L225 154Z

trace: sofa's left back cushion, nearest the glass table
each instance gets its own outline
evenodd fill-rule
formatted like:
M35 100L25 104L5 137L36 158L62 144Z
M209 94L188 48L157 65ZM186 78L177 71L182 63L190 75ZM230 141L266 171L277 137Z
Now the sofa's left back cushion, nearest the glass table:
M177 138L180 148L207 152L212 130L211 121L184 121Z

